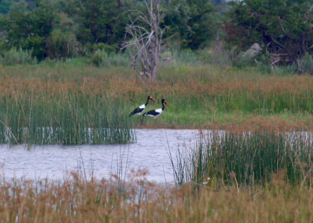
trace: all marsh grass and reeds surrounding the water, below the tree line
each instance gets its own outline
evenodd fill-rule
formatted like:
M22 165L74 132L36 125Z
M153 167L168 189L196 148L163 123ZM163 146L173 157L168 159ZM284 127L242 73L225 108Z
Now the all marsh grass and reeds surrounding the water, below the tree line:
M131 109L146 95L157 101L151 109L165 97L171 107L142 128L203 129L188 153L172 153L182 161L177 187L147 181L145 170L131 172L136 182L3 177L1 221L311 221L310 76L178 63L144 85L126 66L81 62L1 69L2 142L132 142Z

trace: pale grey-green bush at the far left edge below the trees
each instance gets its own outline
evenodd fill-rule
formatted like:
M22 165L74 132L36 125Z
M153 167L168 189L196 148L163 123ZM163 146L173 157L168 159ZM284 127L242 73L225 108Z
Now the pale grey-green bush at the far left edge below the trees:
M16 65L16 64L35 64L36 58L32 58L33 50L23 51L20 47L16 50L12 47L9 51L4 51L3 56L0 56L0 63L2 65Z

